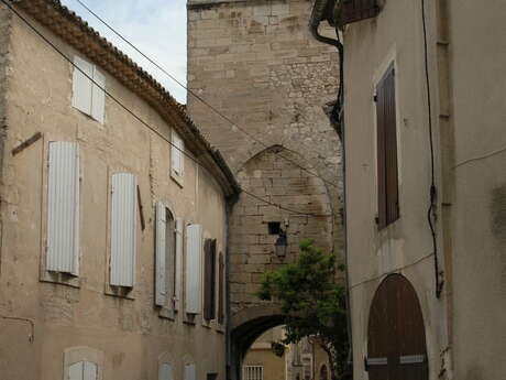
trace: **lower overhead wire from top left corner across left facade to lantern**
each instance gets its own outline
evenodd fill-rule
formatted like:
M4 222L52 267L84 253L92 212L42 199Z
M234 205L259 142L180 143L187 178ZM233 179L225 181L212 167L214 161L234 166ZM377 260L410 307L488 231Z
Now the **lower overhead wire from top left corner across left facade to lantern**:
M198 166L202 167L204 170L207 170L196 158L194 158L191 154L189 154L187 151L182 150L177 145L175 145L170 140L168 140L165 135L163 135L160 131L157 131L155 128L150 126L147 122L145 122L141 117L139 117L135 112L131 111L127 106L124 106L121 100L119 100L116 96L113 96L111 93L109 93L105 87L102 87L100 84L98 84L94 78L91 78L87 73L85 73L80 67L78 67L73 59L70 59L65 53L63 53L55 44L53 44L44 34L42 34L32 23L26 20L23 15L21 15L7 0L0 0L6 7L8 7L20 20L22 20L35 34L37 34L45 43L47 43L54 51L56 51L65 61L67 61L75 69L79 70L82 75L85 75L86 78L88 78L95 86L100 88L109 98L111 98L118 106L120 106L123 110L125 110L130 116L132 116L135 120L141 122L144 127L150 129L152 132L154 132L156 135L158 135L162 140L167 142L173 149L178 150L180 153L186 155L188 159L194 161ZM261 200L267 205L277 207L279 209L300 215L300 216L311 216L311 217L332 217L332 214L315 214L315 213L306 213L306 211L299 211L299 210L294 210L292 208L284 207L279 204L272 203L267 199L262 198L261 196L251 193L249 191L245 191L241 188L241 191L249 196Z

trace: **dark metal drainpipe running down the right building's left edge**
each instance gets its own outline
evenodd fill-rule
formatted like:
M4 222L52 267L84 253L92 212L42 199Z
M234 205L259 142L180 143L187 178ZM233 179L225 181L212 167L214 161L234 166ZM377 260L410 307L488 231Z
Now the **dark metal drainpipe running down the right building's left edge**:
M318 32L318 26L320 25L319 21L318 23L311 22L310 24L310 31L312 36L324 44L336 46L339 51L339 94L338 94L338 101L340 100L340 95L342 99L342 106L344 105L344 69L343 69L343 63L344 63L344 46L339 40L339 30L336 28L336 35L337 40L327 37L321 35ZM341 112L343 110L341 109ZM348 232L346 232L346 151L345 151L345 144L344 144L344 133L345 133L345 128L344 128L344 117L341 117L340 119L341 122L341 145L342 145L342 172L343 172L343 192L342 192L342 198L343 198L343 214L342 214L342 227L343 227L343 232L344 232L344 265L345 265L345 282L346 282L346 327L348 327L348 340L350 345L350 351L348 354L348 361L352 366L353 370L353 338L352 338L352 333L351 333L351 301L350 301L350 275L349 275L349 267L348 267Z

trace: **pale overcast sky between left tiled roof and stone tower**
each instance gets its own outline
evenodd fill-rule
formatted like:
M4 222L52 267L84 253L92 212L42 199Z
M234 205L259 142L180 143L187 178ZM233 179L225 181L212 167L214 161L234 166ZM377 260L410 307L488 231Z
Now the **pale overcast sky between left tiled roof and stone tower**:
M81 0L141 52L186 85L186 0ZM62 3L153 75L179 101L186 90L114 35L76 0Z

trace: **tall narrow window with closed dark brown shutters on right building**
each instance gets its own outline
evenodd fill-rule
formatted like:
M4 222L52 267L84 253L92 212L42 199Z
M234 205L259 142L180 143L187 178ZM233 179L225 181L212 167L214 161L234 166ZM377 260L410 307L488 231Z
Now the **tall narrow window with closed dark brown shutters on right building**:
M380 229L399 218L397 173L397 128L394 65L376 86L377 135L377 226Z

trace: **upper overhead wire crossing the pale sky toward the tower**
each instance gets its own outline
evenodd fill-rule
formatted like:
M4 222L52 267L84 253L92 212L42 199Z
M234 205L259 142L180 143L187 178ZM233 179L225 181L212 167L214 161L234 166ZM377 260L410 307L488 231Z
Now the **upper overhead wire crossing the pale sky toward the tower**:
M168 76L172 80L174 80L177 85L179 85L180 87L183 87L185 90L187 90L187 93L189 95L191 95L193 97L195 97L197 100L199 100L201 104L204 104L205 106L207 106L208 108L210 108L216 115L218 115L220 118L222 118L223 120L226 120L228 123L230 123L232 126L232 129L233 128L237 128L238 130L240 130L242 133L244 133L246 137L249 137L251 140L255 141L256 143L261 144L262 146L264 148L270 148L270 145L267 145L266 143L264 143L262 140L255 138L253 134L249 133L244 128L238 126L233 120L231 120L228 116L223 115L223 112L221 112L220 110L218 110L215 106L210 105L209 102L207 102L201 96L199 96L198 94L196 94L194 90L189 89L187 86L185 86L180 80L178 80L173 74L170 74L169 72L167 72L165 68L163 68L161 65L158 65L154 59L152 59L150 56L147 56L146 54L144 54L139 47L136 47L133 43L131 43L127 37L124 37L120 32L118 32L113 26L111 26L106 20L103 20L100 15L98 15L96 12L94 12L87 4L85 4L81 0L75 0L76 2L78 2L84 9L86 9L89 13L91 13L97 20L99 20L107 29L109 29L112 33L114 33L119 39L121 39L121 41L123 41L125 44L128 44L130 47L132 47L136 53L139 53L141 56L143 56L145 59L147 59L147 62L150 62L152 65L154 65L157 69L160 69L162 73L164 73L166 76ZM279 154L277 153L277 155L279 158L282 158L283 160L294 164L295 166L304 170L305 172L316 176L316 177L319 177L321 181L323 181L324 183L327 183L328 185L331 185L331 186L334 186L334 187L339 187L336 183L333 183L332 181L329 181L329 180L326 180L323 177L321 177L320 175L318 175L317 173L308 170L307 167L304 167L302 165L298 164L297 162L295 162L294 160L292 159L288 159L286 156L284 156L283 154Z

